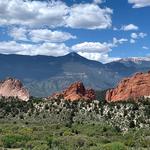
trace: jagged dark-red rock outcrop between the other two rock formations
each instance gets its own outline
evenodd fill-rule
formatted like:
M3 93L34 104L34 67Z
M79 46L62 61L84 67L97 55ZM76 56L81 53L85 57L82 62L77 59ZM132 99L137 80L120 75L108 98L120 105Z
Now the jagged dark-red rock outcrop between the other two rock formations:
M66 90L55 93L49 98L63 98L66 100L94 100L96 98L93 89L85 89L82 82L76 82L70 85Z

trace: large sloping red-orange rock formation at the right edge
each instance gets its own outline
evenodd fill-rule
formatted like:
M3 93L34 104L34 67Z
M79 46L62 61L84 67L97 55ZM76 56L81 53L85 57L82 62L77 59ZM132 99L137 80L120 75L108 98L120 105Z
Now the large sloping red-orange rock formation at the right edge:
M136 73L131 78L124 78L116 88L107 91L108 102L125 101L130 98L150 97L150 72Z

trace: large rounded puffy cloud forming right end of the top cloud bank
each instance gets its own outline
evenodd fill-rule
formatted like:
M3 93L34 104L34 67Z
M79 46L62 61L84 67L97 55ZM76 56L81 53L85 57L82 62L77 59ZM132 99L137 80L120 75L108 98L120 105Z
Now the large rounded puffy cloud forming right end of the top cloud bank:
M71 28L106 29L112 25L110 8L102 9L95 4L78 4L71 7L66 25Z

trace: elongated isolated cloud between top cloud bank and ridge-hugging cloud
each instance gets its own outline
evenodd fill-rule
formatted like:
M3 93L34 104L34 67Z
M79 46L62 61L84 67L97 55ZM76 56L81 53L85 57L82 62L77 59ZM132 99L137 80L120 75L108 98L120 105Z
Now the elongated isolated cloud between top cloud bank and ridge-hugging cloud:
M25 29L13 28L10 31L10 36L14 40L32 41L32 42L64 42L70 39L75 39L76 36L62 31L51 31L49 29Z

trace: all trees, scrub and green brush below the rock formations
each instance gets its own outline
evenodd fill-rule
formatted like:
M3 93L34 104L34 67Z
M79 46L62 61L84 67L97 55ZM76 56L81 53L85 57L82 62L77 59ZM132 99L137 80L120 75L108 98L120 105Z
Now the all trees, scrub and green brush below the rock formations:
M147 150L150 100L0 100L0 149Z

